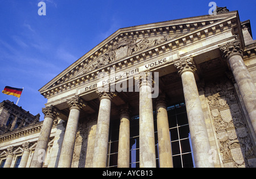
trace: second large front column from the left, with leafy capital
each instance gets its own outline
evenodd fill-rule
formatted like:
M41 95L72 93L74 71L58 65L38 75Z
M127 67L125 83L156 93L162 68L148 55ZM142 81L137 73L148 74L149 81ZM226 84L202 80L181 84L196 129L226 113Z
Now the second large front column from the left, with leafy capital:
M65 135L60 152L58 168L70 168L76 141L77 127L79 123L80 110L86 106L85 101L79 96L67 100L69 105L69 117Z

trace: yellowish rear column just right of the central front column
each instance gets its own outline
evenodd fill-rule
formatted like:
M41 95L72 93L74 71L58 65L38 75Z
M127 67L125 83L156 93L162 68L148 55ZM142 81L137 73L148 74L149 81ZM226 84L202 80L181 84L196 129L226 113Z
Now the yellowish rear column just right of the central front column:
M166 96L160 95L155 100L158 125L158 148L160 168L173 168L171 137L168 122Z

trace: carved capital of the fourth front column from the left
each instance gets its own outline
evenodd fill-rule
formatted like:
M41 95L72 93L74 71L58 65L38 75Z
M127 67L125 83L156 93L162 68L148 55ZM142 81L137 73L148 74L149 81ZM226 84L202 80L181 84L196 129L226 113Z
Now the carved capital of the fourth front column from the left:
M152 73L148 71L143 71L137 75L134 75L135 85L137 84L138 87L142 86L150 86L152 87L154 82L154 78L152 76Z

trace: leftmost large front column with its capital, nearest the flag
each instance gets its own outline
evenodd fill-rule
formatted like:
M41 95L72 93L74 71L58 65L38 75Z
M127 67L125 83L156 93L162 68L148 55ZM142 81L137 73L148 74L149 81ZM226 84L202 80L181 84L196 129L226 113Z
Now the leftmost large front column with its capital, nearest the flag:
M60 114L59 110L55 107L48 106L42 109L44 113L44 123L38 138L38 143L36 144L34 156L31 162L31 168L42 168L44 162L44 154L46 154L49 136L52 130L53 120Z

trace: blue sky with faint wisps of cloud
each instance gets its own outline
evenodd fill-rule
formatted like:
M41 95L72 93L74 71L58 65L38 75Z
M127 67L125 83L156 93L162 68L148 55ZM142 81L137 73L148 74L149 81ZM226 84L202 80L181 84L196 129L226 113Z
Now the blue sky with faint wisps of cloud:
M44 0L46 16L38 15L39 2L0 0L0 90L24 87L18 105L43 120L47 99L38 90L106 37L123 27L207 15L211 1ZM256 39L255 0L214 2L250 19ZM17 98L0 93L3 100Z

